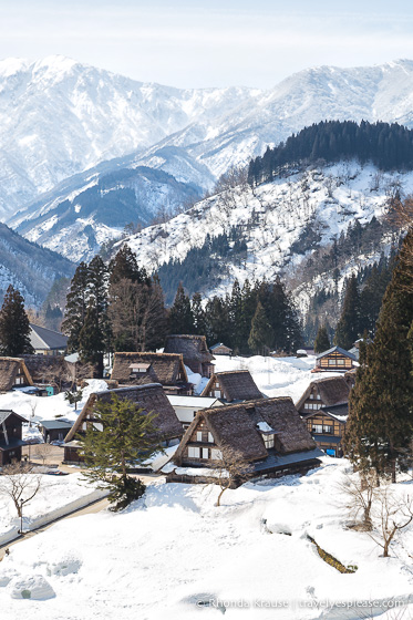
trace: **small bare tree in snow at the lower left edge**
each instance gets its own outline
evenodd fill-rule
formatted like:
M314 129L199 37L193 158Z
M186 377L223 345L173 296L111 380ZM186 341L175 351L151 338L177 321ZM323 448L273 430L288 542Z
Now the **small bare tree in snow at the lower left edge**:
M0 495L10 497L18 516L22 508L33 499L41 487L41 476L32 473L33 467L22 463L6 465L0 476Z

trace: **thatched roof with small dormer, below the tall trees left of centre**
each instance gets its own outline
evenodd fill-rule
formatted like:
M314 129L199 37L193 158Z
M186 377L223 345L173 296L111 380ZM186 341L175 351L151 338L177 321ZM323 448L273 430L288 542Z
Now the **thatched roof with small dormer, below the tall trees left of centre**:
M141 362L151 364L148 371L140 379L131 379L131 365ZM111 379L124 384L140 384L141 380L143 382L149 380L151 383L158 382L162 385L176 385L182 382L179 374L184 378L184 381L188 381L183 356L178 354L146 352L115 353ZM145 378L145 375L147 376Z

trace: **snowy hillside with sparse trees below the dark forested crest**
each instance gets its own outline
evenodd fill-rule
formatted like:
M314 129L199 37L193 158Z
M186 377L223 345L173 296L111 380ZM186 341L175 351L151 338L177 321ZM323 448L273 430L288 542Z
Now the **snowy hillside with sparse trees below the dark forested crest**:
M312 249L331 242L350 223L358 219L365 224L373 216L382 216L395 185L405 194L412 193L413 173L379 174L373 166L357 163L307 169L254 190L238 187L213 196L166 224L145 228L126 242L141 265L156 270L169 260L183 261L192 248L203 247L207 235L229 235L235 227L247 252L236 259L230 255L219 258L220 281L213 289L205 282L203 291L223 294L235 278L242 285L246 278L270 280L280 272L292 276ZM385 250L385 244L381 249ZM348 269L379 255L349 257ZM173 268L165 272L165 279L171 281L173 272ZM183 280L185 286L185 277Z

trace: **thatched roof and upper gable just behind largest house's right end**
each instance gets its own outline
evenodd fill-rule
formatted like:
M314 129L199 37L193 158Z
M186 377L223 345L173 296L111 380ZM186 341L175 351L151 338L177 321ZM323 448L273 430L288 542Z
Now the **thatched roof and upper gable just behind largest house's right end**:
M297 402L300 415L318 411L322 406L348 403L350 386L344 376L330 376L312 381Z

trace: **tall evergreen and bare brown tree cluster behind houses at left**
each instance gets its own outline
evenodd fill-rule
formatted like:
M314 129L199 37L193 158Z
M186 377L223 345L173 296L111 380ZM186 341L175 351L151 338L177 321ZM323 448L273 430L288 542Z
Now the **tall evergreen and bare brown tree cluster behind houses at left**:
M145 351L164 343L166 310L157 277L141 269L124 246L106 266L100 256L81 262L66 298L62 331L69 351L103 372L109 351Z

